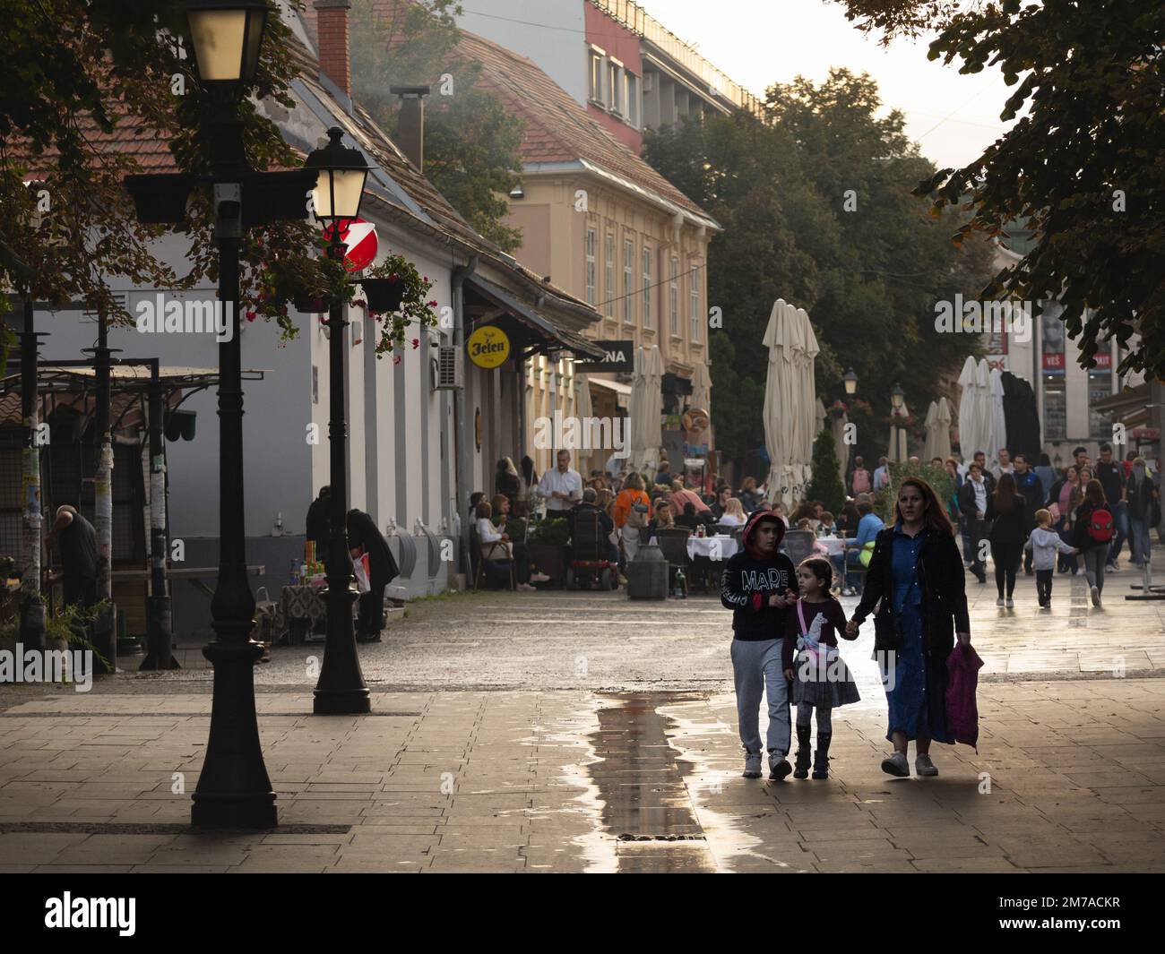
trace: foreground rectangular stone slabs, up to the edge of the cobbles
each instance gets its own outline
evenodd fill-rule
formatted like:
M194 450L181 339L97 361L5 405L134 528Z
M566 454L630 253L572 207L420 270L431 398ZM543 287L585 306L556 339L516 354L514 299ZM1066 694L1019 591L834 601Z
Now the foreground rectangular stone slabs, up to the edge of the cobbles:
M1065 685L1072 692L1061 698ZM70 693L10 708L0 715L0 868L996 872L1165 865L1165 680L987 683L980 751L935 747L942 772L935 779L880 771L884 716L878 700L867 700L834 715L829 780L785 783L740 777L730 693L647 704L641 694L591 692L394 698L419 713L403 729L376 718L334 720L343 733L306 714L260 719L266 751L298 751L294 762L268 758L281 822L341 826L319 834L150 832L160 821L189 818L189 796L171 792L165 766L188 763L186 740L204 740L209 719L182 695L169 699L189 713L176 718L175 732L141 734L126 755L71 769L66 778L45 777L41 763L23 757L42 751L55 725L42 716L42 734L20 730L26 706L48 714L59 700L76 716L86 701L99 704L105 714L86 716L85 732L70 741L85 751L101 736L122 735L143 709L156 708L141 704L155 700L106 693L79 701ZM1081 700L1095 711L1081 711ZM306 712L310 701L288 695L281 705ZM377 708L387 701L374 698ZM648 749L642 776L630 736L609 741L631 707ZM446 723L450 709L473 718ZM440 750L415 745L435 736L445 742ZM606 745L606 758L595 744ZM424 761L405 762L409 754ZM397 791L394 773L402 770L415 782ZM185 780L189 792L193 773ZM113 820L141 831L104 833ZM44 822L70 827L5 827ZM629 824L680 840L620 841Z

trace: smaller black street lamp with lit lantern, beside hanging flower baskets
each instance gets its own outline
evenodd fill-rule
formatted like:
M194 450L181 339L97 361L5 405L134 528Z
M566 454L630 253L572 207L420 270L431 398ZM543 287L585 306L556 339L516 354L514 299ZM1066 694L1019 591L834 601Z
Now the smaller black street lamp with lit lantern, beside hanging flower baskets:
M304 165L317 170L312 206L316 218L329 227L327 256L343 261L345 247L340 240L340 224L359 214L365 179L370 167L359 149L348 149L341 144L343 129L333 127L327 130L327 146L312 151ZM333 297L327 313L331 379L327 439L331 448L332 488L327 588L323 594L327 603L327 642L312 706L317 715L353 715L372 709L352 627L352 605L356 600L356 593L352 588L352 554L348 551L347 533L348 423L344 393L344 326L347 319L344 310L344 301Z

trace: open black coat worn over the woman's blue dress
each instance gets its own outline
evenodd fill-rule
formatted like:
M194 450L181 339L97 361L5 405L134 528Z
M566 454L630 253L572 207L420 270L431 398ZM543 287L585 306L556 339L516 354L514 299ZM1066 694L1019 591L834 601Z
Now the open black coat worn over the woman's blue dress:
M962 557L951 533L925 527L918 553L918 582L923 591L923 655L927 677L946 678L946 659L954 649L955 633L970 633L967 593L963 587ZM882 608L874 620L874 649L896 649L894 626L894 528L880 531L874 556L866 572L862 601L854 610L859 623L869 616L878 601Z

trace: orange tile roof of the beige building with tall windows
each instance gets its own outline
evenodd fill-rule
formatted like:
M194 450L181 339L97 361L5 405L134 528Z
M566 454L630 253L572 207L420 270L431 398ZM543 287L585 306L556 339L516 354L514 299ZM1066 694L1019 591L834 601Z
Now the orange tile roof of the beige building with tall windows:
M711 218L647 162L627 148L524 56L461 30L460 52L481 63L481 84L494 90L527 123L522 158L535 162L584 160L650 190L696 215Z

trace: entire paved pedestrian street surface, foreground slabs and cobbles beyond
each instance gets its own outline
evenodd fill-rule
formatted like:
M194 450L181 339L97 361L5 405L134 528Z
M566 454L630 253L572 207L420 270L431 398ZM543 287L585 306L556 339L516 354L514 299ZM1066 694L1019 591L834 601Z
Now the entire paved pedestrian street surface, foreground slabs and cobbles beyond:
M878 769L869 634L845 648L864 699L835 713L831 779L741 778L711 599L419 605L361 646L363 718L308 714L319 648L276 652L257 671L275 832L186 828L206 673L3 687L0 870L1160 871L1165 603L1117 599L1130 581L1094 609L1058 578L1051 614L1030 580L1010 612L972 582L982 737L938 747L937 779Z

